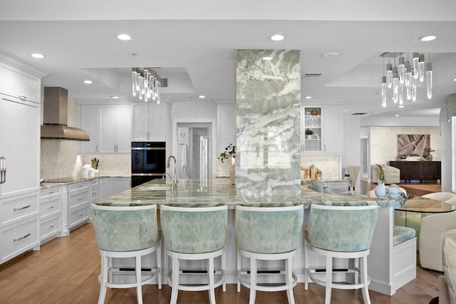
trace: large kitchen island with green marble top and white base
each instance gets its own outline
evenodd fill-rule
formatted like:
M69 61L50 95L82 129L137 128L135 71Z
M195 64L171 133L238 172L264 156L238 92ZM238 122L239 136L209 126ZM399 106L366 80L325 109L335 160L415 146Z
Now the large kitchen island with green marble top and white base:
M375 227L371 255L368 257L368 273L371 276L370 289L393 295L395 290L410 282L416 277L416 239L413 238L407 242L401 243L403 248L395 250L393 248L393 231L394 231L394 205L398 201L382 200L379 198L365 198L356 196L342 196L337 194L317 193L302 188L301 196L239 196L235 186L229 183L228 178L216 178L204 182L196 180L179 181L177 191L172 192L168 187L156 186L160 181L151 181L138 187L132 188L117 195L110 196L97 204L104 206L137 206L143 204L166 204L170 206L229 206L228 213L228 231L227 231L227 283L237 283L236 270L236 241L234 230L234 206L242 204L244 206L289 206L304 204L304 225L309 222L310 204L311 203L361 203L369 201L376 202L380 206L378 223ZM154 186L155 185L155 186ZM304 232L304 229L303 229ZM395 246L397 247L397 246ZM397 249L397 248L396 248ZM314 253L307 253L311 260L310 265L313 268L323 268L324 258ZM152 260L152 259L151 259ZM119 268L132 268L127 261L119 262L128 265L118 265ZM271 263L271 262L269 262ZM294 273L299 282L304 282L304 235L300 238L298 253L293 261ZM247 265L247 263L243 263ZM150 265L151 267L155 265ZM187 265L191 270L201 270L204 263L196 262ZM261 270L268 270L269 264L261 265ZM336 261L336 268L347 268L346 261ZM167 260L162 265L162 274L167 275ZM339 274L343 280L343 274ZM119 272L119 278L122 280L128 277L128 273ZM264 280L274 282L276 275L264 275ZM349 280L349 278L348 278Z

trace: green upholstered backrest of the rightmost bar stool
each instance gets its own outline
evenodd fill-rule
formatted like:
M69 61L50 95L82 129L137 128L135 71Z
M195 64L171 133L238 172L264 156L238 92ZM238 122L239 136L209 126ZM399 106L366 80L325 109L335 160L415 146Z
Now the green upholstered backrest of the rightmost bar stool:
M311 204L306 239L323 250L356 252L371 248L378 206L325 206Z

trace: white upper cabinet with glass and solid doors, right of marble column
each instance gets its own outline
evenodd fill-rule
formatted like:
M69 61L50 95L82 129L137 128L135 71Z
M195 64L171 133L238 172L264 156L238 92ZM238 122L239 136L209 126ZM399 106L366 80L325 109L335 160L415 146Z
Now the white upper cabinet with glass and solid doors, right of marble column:
M304 153L343 153L342 106L301 106Z

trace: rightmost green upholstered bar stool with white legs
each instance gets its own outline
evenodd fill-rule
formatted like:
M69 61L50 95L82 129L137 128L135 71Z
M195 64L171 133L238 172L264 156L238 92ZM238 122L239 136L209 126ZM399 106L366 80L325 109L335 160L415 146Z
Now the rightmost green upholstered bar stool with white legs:
M359 203L358 203L359 204ZM307 290L309 278L318 285L326 286L325 303L331 303L331 288L363 289L364 303L371 303L368 285L367 256L370 253L375 223L378 218L378 205L366 206L326 206L311 205L309 226L305 230L304 287ZM315 270L309 268L310 251L326 256L326 279L318 278ZM355 260L354 283L333 282L333 258ZM358 267L359 266L359 267ZM359 280L358 280L359 277Z

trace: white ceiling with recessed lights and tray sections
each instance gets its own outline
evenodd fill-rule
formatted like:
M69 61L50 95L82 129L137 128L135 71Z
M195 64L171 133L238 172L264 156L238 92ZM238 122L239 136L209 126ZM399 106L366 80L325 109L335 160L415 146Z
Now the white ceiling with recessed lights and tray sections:
M347 114L439 115L456 93L456 1L122 1L0 0L0 49L50 72L44 86L62 86L76 100L131 99L133 66L160 67L165 101L234 102L236 49L299 49L301 98L341 103ZM120 41L118 34L129 34ZM272 34L283 41L271 41ZM438 34L435 41L418 37ZM384 52L430 55L432 100L383 108ZM31 53L45 54L33 59ZM332 59L322 54L336 52ZM133 55L135 54L135 55ZM84 79L93 80L86 85Z

